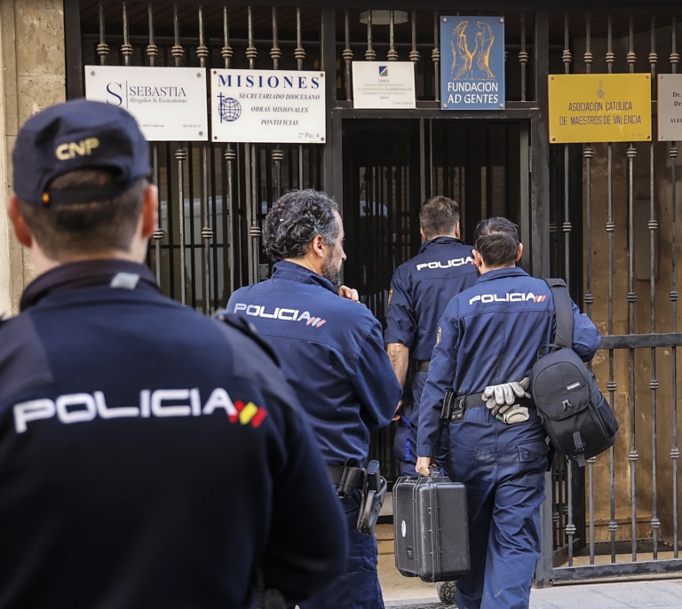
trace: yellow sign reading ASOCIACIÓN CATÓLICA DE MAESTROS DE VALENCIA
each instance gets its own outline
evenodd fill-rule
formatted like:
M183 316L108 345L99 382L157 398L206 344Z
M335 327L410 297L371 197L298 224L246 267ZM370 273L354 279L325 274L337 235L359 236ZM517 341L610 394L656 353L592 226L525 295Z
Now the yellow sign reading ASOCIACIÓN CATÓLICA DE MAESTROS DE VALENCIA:
M651 141L651 75L549 76L550 143Z

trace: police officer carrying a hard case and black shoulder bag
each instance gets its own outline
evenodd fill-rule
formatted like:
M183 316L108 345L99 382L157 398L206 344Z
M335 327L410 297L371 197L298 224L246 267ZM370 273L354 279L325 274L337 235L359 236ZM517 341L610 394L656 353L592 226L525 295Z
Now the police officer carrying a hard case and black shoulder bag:
M551 289L516 266L523 246L505 218L474 233L480 278L439 322L424 392L416 469L437 455L446 394L449 474L467 492L471 571L457 581L459 609L525 609L540 557L540 504L548 447L527 394L538 349L556 323ZM591 360L599 331L573 303L573 349Z

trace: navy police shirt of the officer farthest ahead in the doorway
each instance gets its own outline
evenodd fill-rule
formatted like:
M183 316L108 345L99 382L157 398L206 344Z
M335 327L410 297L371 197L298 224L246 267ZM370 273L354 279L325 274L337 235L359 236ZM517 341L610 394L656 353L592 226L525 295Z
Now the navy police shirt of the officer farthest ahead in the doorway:
M385 343L407 346L415 360L431 358L440 315L450 298L476 282L471 248L455 237L424 241L391 280Z

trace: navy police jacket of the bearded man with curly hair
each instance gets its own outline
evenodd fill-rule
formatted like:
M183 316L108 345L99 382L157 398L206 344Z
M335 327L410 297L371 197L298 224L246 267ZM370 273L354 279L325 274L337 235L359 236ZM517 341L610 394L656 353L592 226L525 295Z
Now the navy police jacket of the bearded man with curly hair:
M369 430L391 422L401 393L372 312L286 260L269 280L236 290L227 311L252 322L279 356L325 463L363 465Z

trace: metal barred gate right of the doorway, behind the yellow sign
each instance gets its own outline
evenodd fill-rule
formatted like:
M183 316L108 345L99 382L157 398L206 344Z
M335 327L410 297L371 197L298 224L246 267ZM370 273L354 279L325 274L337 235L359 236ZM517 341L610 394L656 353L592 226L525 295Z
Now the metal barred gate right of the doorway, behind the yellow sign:
M643 72L655 100L656 75L677 71L674 14L553 19L552 73ZM552 146L551 273L569 278L604 336L592 367L621 427L584 471L555 463L545 530L560 551L543 557L541 583L682 569L677 158L674 142Z

